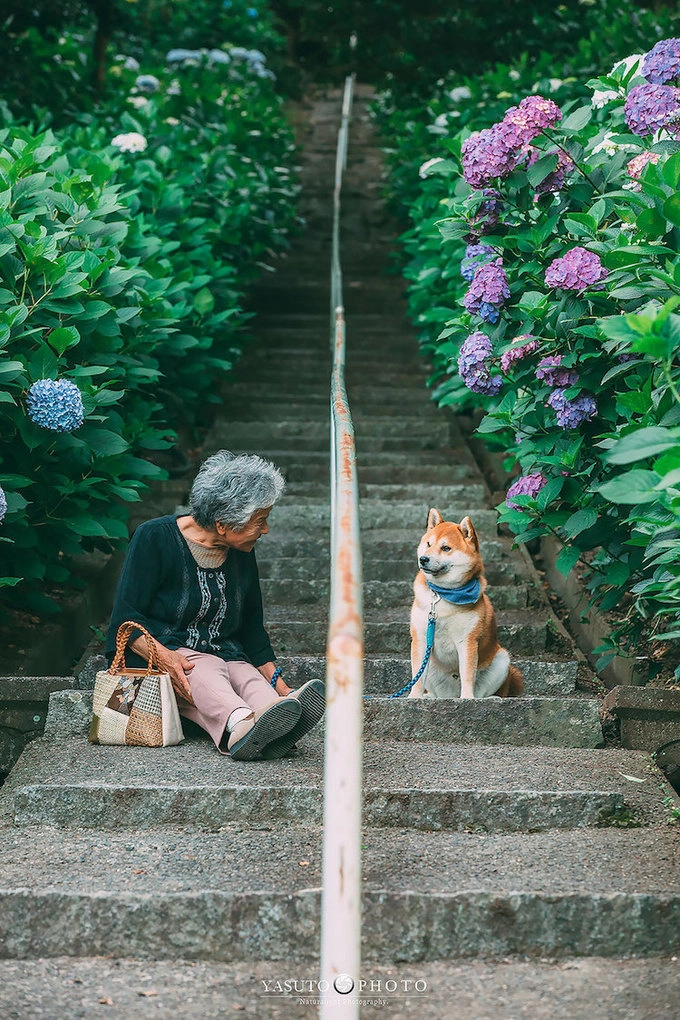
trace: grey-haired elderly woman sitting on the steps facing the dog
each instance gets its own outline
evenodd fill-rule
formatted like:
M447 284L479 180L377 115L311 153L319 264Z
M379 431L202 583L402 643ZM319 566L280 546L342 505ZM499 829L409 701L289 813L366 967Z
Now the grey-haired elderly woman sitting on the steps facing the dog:
M324 709L320 680L298 691L283 682L262 620L254 549L283 488L280 471L261 457L224 450L209 457L189 512L135 531L107 635L110 659L124 620L145 626L181 714L242 761L281 758ZM141 631L130 649L136 665L146 664Z

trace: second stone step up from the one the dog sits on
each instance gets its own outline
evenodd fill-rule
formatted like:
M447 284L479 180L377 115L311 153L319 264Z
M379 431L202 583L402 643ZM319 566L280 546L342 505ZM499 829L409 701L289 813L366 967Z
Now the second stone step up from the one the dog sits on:
M313 608L317 612L313 612ZM502 611L495 614L499 641L514 655L538 656L545 650L547 619L538 611ZM265 624L278 654L318 655L325 649L328 629L327 607L295 607L265 612ZM408 655L411 648L409 607L383 609L366 614L364 642L368 655Z

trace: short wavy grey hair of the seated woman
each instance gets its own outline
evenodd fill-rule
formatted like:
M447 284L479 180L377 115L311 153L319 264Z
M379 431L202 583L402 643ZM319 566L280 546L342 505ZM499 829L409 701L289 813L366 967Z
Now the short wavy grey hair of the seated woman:
M201 465L189 509L200 527L214 528L219 521L241 531L256 510L272 507L284 488L283 475L270 461L220 450Z

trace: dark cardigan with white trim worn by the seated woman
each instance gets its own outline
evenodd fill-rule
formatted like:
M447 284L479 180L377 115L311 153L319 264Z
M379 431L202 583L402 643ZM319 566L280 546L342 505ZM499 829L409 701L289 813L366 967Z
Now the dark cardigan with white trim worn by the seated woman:
M143 624L166 648L193 648L254 666L271 662L255 552L230 549L221 567L200 567L177 517L148 520L133 536L106 635L109 662L125 620ZM126 661L143 664L129 650Z

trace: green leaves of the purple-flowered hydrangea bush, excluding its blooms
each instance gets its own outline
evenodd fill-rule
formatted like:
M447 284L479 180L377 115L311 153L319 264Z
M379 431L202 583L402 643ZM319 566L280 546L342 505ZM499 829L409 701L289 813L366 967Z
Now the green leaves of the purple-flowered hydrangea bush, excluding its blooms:
M531 81L521 61L466 81L459 87L465 93L439 92L419 118L398 112L388 97L379 115L400 142L393 182L415 224L405 238L406 273L423 351L433 363L433 396L441 405L485 408L482 438L507 451L509 468L541 479L535 495L513 496L500 507L502 520L519 541L559 538L564 573L580 562L592 604L617 607L623 617L614 654L643 635L680 635L680 144L668 135L642 139L627 128L624 99L643 82L635 65L620 64L587 83L589 92L612 93L603 105L585 99L585 83L548 78L548 61L539 61ZM527 93L550 96L564 117L534 139L531 165L493 183L502 203L493 225L485 221L486 197L462 176L461 146L472 129L490 126ZM559 150L574 165L564 187L541 190ZM657 162L634 178L628 163L641 153ZM425 155L433 158L416 183L414 161ZM495 323L463 303L469 285L460 263L466 242L477 241L503 260L510 285ZM597 255L606 278L582 290L550 287L547 267L574 247ZM502 374L498 396L472 393L458 374L461 344L479 329L492 345L488 370ZM526 336L537 349L511 361ZM556 356L572 373L564 399L594 401L594 415L560 422L547 403L556 385L536 375L538 362Z

